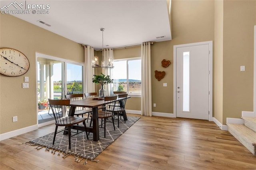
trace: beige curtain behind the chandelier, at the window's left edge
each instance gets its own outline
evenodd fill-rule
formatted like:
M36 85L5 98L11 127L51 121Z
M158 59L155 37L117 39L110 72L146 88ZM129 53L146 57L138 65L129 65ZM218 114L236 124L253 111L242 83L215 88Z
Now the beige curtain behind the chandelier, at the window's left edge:
M103 61L104 61L104 66L107 66L109 61L113 62L114 56L113 56L113 49L111 48L104 48L102 51L103 53ZM102 68L102 73L104 75L110 75L110 79L112 79L112 68ZM113 95L113 83L107 84L104 86L104 89L107 91L108 96Z

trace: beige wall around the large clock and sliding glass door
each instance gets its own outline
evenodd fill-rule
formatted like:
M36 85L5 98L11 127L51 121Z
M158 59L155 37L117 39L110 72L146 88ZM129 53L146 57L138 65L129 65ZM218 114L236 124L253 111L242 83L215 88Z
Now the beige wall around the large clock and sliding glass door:
M28 57L30 68L20 77L0 75L0 134L37 124L36 56L44 53L84 62L83 47L71 40L29 24L8 14L0 14L0 48L17 49ZM29 88L22 89L24 76ZM18 122L12 117L18 116Z

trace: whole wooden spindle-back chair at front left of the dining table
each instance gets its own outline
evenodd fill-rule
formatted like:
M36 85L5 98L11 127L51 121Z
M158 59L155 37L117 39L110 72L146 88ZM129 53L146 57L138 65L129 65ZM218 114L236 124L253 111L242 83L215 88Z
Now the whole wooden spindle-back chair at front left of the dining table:
M50 106L52 106L52 113L54 115L54 119L55 119L55 132L54 132L54 137L53 137L53 141L52 144L54 144L55 138L56 138L56 134L62 131L68 131L68 146L69 149L71 148L71 136L74 136L76 134L79 134L81 132L86 132L86 137L88 138L88 133L87 133L87 129L86 129L86 118L82 118L82 117L73 117L73 116L64 116L64 115L68 115L67 114L67 107L70 105L70 100L68 99L64 99L64 100L52 100L52 99L48 99ZM59 114L58 111L61 111L62 114ZM63 115L63 116L62 116ZM72 132L71 131L71 126L75 125L75 124L79 124L79 123L83 123L84 125L84 130L82 130L81 132ZM64 130L61 130L59 132L57 132L58 127L59 126L65 126ZM72 133L75 133L73 135L71 135Z

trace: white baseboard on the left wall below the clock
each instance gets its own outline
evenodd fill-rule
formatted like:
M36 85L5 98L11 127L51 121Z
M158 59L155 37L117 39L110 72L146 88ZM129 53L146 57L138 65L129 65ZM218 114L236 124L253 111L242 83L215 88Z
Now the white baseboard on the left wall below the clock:
M6 132L6 133L3 133L3 134L0 134L0 141L4 140L4 139L11 138L11 137L14 137L14 136L18 136L20 134L31 132L33 130L36 130L37 128L38 128L38 125L32 125L30 127L25 127L25 128L13 130L11 132Z

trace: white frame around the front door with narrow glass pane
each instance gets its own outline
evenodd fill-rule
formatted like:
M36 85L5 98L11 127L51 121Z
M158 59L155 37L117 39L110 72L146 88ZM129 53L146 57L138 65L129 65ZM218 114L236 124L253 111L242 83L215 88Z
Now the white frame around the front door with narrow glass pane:
M180 47L190 47L196 45L209 45L209 121L213 121L212 119L212 41L208 42L197 42L197 43L187 43L181 45L174 45L173 46L173 112L174 117L177 117L177 102L176 102L176 90L177 90L177 48Z

